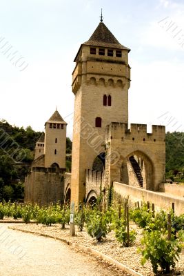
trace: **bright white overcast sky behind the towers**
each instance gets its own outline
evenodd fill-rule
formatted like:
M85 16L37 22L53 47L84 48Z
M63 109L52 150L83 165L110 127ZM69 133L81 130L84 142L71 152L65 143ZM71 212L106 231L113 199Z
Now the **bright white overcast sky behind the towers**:
M101 8L105 25L131 49L130 123L184 131L183 0L0 0L0 119L43 130L57 106L72 137L73 60ZM23 58L12 65L16 51Z

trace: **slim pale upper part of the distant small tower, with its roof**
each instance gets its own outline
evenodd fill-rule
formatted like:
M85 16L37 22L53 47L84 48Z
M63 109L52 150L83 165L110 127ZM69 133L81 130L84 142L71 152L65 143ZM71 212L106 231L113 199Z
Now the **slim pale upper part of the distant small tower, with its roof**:
M57 110L46 121L45 168L50 168L53 164L59 168L65 168L66 126L67 124Z

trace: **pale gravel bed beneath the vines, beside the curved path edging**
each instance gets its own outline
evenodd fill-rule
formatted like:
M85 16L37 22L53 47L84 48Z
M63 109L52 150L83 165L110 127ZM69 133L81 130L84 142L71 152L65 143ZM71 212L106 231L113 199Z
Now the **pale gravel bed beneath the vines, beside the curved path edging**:
M137 248L141 246L141 229L137 228L135 224L130 225L130 228L136 228L138 235L136 236L136 242L134 246L129 248L121 247L116 239L114 238L114 233L111 232L107 235L106 239L103 243L96 243L94 240L86 233L85 230L83 232L79 232L76 229L76 236L70 237L69 235L69 226L66 226L64 230L61 230L61 226L59 224L55 224L53 226L42 226L41 224L14 224L14 229L23 229L35 231L37 233L44 233L47 235L52 235L54 237L61 237L63 239L67 239L69 242L75 242L77 244L81 244L82 246L90 247L94 250L98 250L105 255L116 259L116 261L121 262L125 266L136 270L144 276L153 276L152 266L150 262L147 262L145 266L141 266L141 254L137 253ZM176 269L170 275L178 275L181 272L181 275L184 275L184 255L181 254L179 262L176 264Z

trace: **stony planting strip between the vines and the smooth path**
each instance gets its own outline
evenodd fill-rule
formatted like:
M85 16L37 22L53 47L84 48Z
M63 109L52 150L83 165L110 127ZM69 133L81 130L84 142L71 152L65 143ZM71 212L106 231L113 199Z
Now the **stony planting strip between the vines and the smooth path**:
M132 227L136 226L132 224ZM141 246L140 240L142 230L139 228L136 228L138 232L136 242L134 246L129 248L121 247L119 243L116 242L113 232L107 235L105 242L96 243L85 230L82 232L76 232L75 237L70 237L69 226L66 226L64 230L61 230L60 224L54 224L53 226L42 226L41 224L17 224L10 228L59 239L85 253L92 253L92 255L101 257L105 261L121 268L121 270L130 273L130 275L154 275L150 262L147 262L145 266L141 266L141 254L137 253L137 248ZM178 273L180 272L184 275L184 255L181 255L179 262L176 264L175 271L170 273L170 275L179 275Z

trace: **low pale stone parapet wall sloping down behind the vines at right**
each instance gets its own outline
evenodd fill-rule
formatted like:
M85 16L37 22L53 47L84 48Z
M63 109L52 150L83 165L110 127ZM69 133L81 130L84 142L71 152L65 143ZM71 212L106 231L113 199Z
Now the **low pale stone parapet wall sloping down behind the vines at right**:
M174 203L175 214L181 215L184 213L184 198L182 197L172 196L165 193L156 193L118 182L113 183L113 188L114 192L117 195L121 195L121 197L127 197L127 195L129 195L130 201L150 201L150 203L155 204L156 209L163 208L166 211L169 211L172 208L172 203Z

